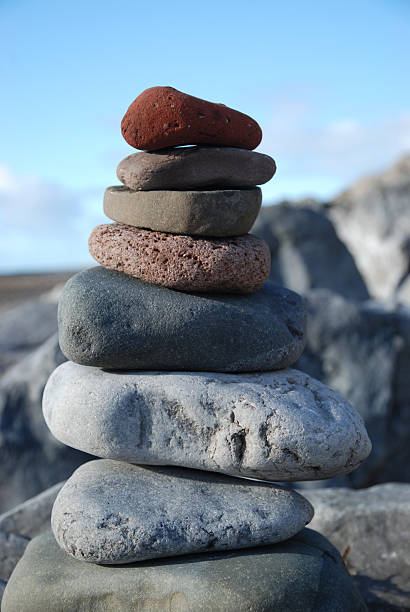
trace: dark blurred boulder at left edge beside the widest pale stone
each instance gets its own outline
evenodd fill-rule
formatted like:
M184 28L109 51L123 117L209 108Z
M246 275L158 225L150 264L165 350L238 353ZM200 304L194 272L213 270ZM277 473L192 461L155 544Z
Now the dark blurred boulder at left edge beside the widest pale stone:
M63 361L53 336L0 379L1 512L67 478L87 458L55 440L41 413L46 381Z

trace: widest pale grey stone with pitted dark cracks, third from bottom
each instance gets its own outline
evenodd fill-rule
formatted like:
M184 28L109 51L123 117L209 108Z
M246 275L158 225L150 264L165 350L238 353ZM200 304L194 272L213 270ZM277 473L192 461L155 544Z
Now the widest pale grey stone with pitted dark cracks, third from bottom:
M67 362L43 412L58 440L98 457L265 480L345 474L371 448L356 410L292 369L115 373Z

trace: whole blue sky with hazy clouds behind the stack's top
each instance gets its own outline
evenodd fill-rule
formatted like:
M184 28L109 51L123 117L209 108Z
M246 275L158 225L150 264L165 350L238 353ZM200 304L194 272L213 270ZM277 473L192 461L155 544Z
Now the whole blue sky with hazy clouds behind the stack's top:
M0 0L0 272L90 262L145 88L254 117L265 203L326 199L410 151L409 52L408 0Z

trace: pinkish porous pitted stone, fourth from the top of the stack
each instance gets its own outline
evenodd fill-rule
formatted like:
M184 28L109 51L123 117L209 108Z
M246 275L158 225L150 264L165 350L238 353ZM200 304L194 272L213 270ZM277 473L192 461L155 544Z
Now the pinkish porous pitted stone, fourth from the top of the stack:
M178 291L252 293L270 272L269 247L251 234L205 239L108 223L88 247L104 268Z

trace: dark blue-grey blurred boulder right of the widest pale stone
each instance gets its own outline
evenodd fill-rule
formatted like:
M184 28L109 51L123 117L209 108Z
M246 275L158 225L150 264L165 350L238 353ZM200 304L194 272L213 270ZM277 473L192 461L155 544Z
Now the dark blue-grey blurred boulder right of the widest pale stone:
M355 304L320 290L307 300L307 345L297 367L346 398L373 443L366 462L341 484L409 482L409 311Z

